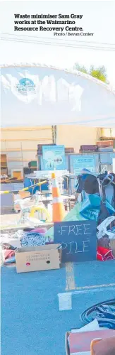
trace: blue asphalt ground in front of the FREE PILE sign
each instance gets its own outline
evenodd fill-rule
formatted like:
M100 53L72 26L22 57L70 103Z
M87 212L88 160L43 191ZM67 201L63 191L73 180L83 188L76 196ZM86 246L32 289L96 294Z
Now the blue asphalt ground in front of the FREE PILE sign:
M75 285L114 283L114 261L74 265ZM114 290L73 295L73 309L59 311L58 293L66 289L66 269L16 273L1 268L1 355L65 355L65 332L80 327L80 313L114 298Z

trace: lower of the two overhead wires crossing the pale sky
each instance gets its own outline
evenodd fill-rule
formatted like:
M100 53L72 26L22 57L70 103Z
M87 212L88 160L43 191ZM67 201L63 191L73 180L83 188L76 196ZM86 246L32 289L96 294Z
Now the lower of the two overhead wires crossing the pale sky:
M6 40L9 42L18 42L18 43L31 43L37 45L56 45L59 47L66 47L66 48L80 48L80 49L89 49L89 50L108 50L109 52L114 52L115 48L102 48L102 47L91 47L88 45L64 45L61 43L51 43L51 42L40 42L40 41L33 41L33 40L21 40L21 39L13 39L13 38L3 38L1 40Z

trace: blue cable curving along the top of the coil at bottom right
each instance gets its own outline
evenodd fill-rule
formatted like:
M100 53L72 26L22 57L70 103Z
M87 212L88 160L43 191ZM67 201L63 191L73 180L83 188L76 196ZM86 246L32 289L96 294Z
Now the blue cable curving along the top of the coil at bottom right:
M92 307L87 308L81 315L80 315L80 320L84 324L90 323L92 320L94 320L94 317L92 318L92 312L95 312L95 308L101 305L109 305L109 306L115 306L115 298L112 300L107 300L104 302L99 302L96 305L93 305Z

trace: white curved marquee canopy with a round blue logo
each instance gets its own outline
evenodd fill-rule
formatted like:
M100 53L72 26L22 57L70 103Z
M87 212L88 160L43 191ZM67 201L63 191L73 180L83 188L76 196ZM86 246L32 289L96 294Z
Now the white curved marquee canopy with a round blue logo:
M115 93L82 72L45 65L1 67L1 126L115 127Z

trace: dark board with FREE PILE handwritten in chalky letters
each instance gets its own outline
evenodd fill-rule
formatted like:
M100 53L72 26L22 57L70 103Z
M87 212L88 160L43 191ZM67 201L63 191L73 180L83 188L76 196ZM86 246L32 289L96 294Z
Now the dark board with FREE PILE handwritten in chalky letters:
M96 260L95 221L54 223L54 244L62 244L62 263Z

